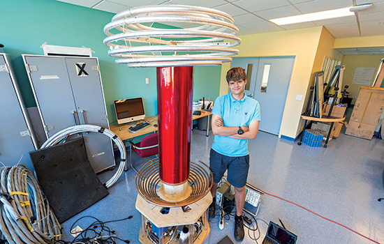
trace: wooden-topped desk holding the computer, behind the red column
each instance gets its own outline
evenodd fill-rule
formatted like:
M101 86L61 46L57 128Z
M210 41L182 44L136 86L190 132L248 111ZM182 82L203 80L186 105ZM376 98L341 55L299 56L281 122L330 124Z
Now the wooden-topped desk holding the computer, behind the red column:
M208 116L208 118L207 118L207 136L209 136L209 130L208 130L209 126L208 125L209 125L209 118L211 116L211 112L202 111L202 110L200 110L200 111L201 111L201 114L200 115L193 115L192 119L195 120L195 119L200 119L202 117ZM143 121L138 121L138 123L143 122ZM140 130L138 132L135 132L135 133L128 131L128 128L130 128L133 125L126 125L126 123L121 124L121 125L118 125L118 124L117 125L110 125L110 130L112 130L112 132L114 132L123 141L127 140L127 139L133 139L134 137L139 137L140 135L145 135L145 134L155 132L158 130L157 127L154 127L154 125L157 124L157 115L147 117L147 118L145 118L145 121L147 121L148 123L151 123L151 126L145 128L144 130Z

